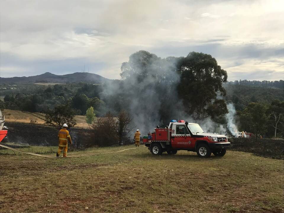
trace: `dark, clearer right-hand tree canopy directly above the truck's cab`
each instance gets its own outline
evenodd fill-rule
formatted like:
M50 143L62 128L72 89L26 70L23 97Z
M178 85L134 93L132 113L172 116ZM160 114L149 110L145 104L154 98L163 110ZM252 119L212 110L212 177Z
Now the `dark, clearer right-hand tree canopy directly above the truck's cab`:
M204 53L191 52L178 60L180 83L178 94L185 111L194 118L215 117L228 112L222 83L227 81L227 72L217 64L216 59Z

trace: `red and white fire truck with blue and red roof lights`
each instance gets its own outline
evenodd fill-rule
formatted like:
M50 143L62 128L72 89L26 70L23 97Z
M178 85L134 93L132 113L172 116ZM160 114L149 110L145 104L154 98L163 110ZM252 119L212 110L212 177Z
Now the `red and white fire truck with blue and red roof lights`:
M200 157L224 156L231 146L225 135L205 133L199 124L184 120L171 120L167 128L155 128L151 137L143 138L140 144L149 147L153 155L163 152L176 154L178 150L194 151Z

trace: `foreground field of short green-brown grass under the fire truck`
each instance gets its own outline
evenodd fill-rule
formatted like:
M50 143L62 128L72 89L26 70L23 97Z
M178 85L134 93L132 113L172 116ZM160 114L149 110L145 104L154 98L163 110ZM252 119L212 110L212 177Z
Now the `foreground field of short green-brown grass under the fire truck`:
M95 148L69 156L117 151ZM72 159L0 156L1 212L283 212L283 160L147 148Z

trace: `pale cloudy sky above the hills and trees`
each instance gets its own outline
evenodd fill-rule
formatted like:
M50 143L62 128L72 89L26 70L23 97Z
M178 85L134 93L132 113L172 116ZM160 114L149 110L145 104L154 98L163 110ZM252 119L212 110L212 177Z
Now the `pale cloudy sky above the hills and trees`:
M120 79L130 54L211 54L228 80L284 78L284 1L1 0L1 77Z

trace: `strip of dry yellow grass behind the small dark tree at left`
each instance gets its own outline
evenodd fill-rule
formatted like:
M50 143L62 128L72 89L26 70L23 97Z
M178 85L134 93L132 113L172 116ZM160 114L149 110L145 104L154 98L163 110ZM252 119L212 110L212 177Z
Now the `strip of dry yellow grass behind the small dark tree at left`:
M22 112L11 109L2 110L2 114L5 115L5 121L10 123L30 123L31 120L36 121L38 125L44 125L44 114L38 112ZM76 128L88 128L88 124L85 120L85 116L76 115L75 116L77 125Z

